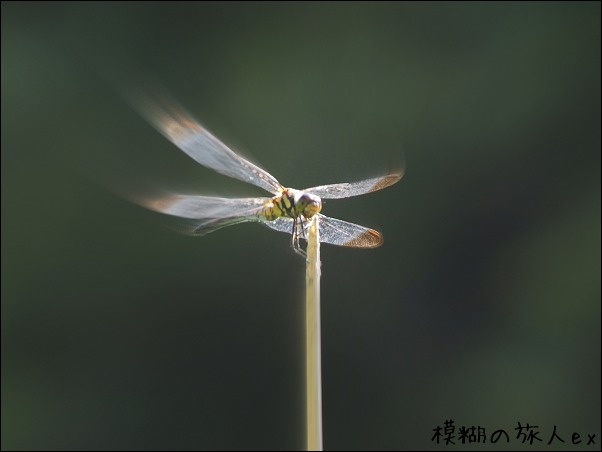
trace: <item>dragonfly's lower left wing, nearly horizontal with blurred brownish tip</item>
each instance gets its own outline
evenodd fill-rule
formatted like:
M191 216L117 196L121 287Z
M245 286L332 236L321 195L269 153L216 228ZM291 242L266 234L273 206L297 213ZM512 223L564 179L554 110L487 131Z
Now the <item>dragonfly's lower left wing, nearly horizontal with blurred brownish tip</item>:
M245 221L261 221L261 210L270 198L216 198L212 196L169 195L157 199L135 199L156 212L185 218L182 232L205 235Z

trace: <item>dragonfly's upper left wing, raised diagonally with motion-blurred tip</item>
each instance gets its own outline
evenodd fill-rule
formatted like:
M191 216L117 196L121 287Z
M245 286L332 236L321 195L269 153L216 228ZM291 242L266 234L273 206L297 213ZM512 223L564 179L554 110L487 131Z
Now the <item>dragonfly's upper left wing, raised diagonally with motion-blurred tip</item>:
M274 194L281 188L272 175L234 153L167 96L135 92L129 98L157 130L201 165Z

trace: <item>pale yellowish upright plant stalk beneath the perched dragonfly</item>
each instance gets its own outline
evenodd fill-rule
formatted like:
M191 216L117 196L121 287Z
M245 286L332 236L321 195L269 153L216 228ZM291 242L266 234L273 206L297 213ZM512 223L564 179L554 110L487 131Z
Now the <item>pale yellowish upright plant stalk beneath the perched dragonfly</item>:
M307 238L305 353L307 450L322 450L322 353L320 340L320 232L314 216Z

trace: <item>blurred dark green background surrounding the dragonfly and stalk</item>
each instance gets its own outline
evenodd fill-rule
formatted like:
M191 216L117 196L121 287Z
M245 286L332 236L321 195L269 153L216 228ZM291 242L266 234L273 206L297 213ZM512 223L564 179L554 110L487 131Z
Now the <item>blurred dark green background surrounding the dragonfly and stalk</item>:
M600 42L599 2L3 2L2 449L304 447L289 237L95 181L264 195L98 76L132 68L288 186L405 159L324 206L385 236L322 248L326 449L450 449L447 419L599 449Z

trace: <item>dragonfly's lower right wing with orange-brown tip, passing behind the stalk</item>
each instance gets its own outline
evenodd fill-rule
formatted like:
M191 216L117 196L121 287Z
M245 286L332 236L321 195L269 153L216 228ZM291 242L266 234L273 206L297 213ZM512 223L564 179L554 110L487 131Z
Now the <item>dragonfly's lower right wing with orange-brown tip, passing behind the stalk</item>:
M322 214L318 214L318 218L320 242L353 248L376 248L383 244L383 236L374 229ZM263 224L280 232L290 234L293 231L293 220L290 218L278 218L275 221L266 221Z

